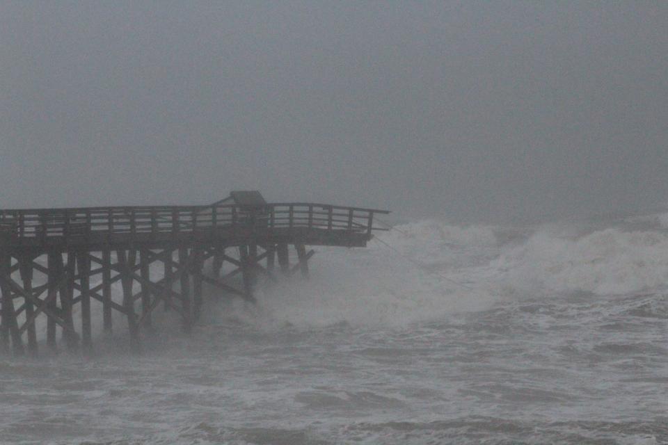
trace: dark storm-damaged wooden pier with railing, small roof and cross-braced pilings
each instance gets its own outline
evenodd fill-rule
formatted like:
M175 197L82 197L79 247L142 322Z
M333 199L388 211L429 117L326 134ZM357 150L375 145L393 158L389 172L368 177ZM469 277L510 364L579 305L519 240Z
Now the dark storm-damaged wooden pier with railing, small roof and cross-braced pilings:
M364 247L381 230L376 213L388 211L270 204L255 191L207 206L0 210L0 350L37 355L35 322L45 319L47 348L92 352L92 300L101 303L104 332L113 311L127 319L136 348L159 306L189 332L202 311L202 283L253 302L258 275L308 276L314 252L306 246ZM221 276L223 264L232 270ZM116 282L121 295L112 292Z

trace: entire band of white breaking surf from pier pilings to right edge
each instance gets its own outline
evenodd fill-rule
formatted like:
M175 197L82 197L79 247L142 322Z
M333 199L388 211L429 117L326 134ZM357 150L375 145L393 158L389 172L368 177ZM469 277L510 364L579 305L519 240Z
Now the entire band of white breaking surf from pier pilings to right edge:
M232 312L260 327L400 327L513 300L662 292L668 215L642 218L655 224L397 225L367 249L318 248L310 280L262 284L260 305Z

